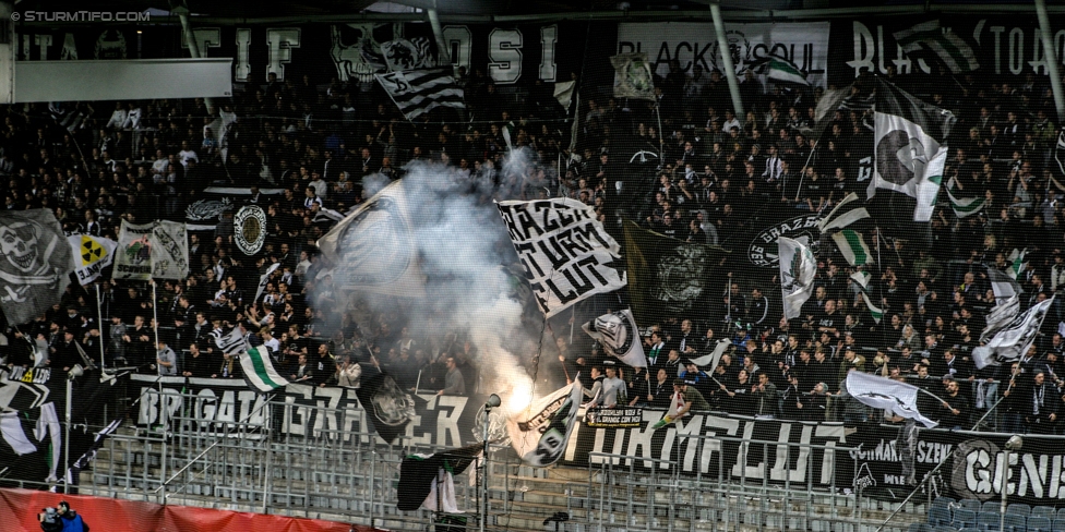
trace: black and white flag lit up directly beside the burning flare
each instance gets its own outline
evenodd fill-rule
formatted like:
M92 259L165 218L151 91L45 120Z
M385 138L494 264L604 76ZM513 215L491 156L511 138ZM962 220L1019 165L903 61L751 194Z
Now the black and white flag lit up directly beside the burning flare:
M573 384L536 401L506 419L506 434L522 461L546 468L559 461L577 422L583 390L579 375Z

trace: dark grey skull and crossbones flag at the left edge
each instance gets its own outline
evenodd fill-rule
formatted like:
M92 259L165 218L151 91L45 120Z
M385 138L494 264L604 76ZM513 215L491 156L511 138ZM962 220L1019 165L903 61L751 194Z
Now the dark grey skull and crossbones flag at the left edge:
M0 309L12 325L43 314L70 282L74 259L51 210L0 214Z

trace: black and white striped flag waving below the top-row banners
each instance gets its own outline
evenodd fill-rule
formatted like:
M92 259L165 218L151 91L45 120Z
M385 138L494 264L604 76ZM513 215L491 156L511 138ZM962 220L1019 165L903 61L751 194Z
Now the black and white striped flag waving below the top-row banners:
M390 72L374 76L407 120L414 120L438 107L466 109L463 87L455 83L450 68Z

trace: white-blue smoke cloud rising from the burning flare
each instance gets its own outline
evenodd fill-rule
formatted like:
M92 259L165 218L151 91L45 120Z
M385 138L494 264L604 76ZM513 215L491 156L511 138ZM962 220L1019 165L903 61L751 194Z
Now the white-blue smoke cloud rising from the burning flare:
M531 161L531 152L515 152L500 169L495 186L491 180L475 181L454 167L417 162L406 168L404 184L410 214L412 241L375 243L376 252L388 256L390 246L415 245L426 275L424 301L398 302L368 293L354 293L345 307L364 303L373 314L399 312L412 332L432 335L466 332L477 347L474 365L480 372L479 390L499 394L511 411L532 400L531 360L542 334L542 317L525 318L527 306L513 293L513 275L507 270L517 262L506 228L492 200L546 197L551 169ZM366 197L387 185L390 180L371 176L363 180ZM340 243L343 246L343 242ZM337 265L337 268L343 268ZM339 277L339 276L336 276ZM524 278L520 282L526 282ZM527 293L520 291L519 293ZM368 324L360 324L363 330ZM387 352L387 347L382 346ZM426 350L427 353L429 349ZM472 391L475 383L466 383ZM535 390L537 396L552 390Z

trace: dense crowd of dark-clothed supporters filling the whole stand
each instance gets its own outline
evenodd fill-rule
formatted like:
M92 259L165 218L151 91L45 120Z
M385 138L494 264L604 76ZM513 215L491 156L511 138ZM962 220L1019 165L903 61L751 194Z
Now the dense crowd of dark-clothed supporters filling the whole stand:
M883 322L873 319L850 279L852 268L838 254L822 255L815 294L790 322L780 318L778 280L734 266L714 305L639 324L647 329L646 372L610 364L590 340L571 346L560 337L560 375L579 372L602 406L665 408L675 384L696 409L881 421L841 389L849 371L863 371L938 397L922 395L921 409L943 426L970 428L1002 399L984 427L1065 430L1057 423L1058 412L1065 414L1060 304L1018 363L978 371L971 359L994 305L985 266L1005 268L1013 250L1027 250L1017 278L1022 307L1065 287L1065 219L1057 200L1065 189L1053 173L1057 125L1050 119L1050 86L1032 75L1018 84L968 75L917 86L889 77L954 111L947 176L967 196L986 203L966 218L936 208L924 242L865 235L886 247L883 262L867 268L883 287ZM549 183L551 192L591 205L609 226L617 227L624 211L689 242L725 243L765 205L827 213L867 184L859 180L860 160L872 153L867 106L836 111L814 146L806 136L821 90L766 84L751 72L740 84L744 117L733 114L721 74L697 66L684 73L673 64L656 78L655 102L618 101L586 89L572 153L565 111L548 87L538 84L527 98L515 98L481 71L462 72L458 81L471 120L438 109L407 121L380 90L336 80L315 85L308 76L272 78L216 102L217 117L199 99L120 101L113 109L109 102L4 107L0 173L7 209L50 208L71 233L117 240L121 220L182 220L198 194L216 184L247 190L236 197L266 209L268 231L261 253L241 254L230 211L213 231L190 231L187 279L154 287L104 280L99 303L95 289L72 281L46 315L8 324L4 363L65 371L81 360L77 344L96 353L103 342L107 366L239 378L239 364L219 352L212 331L240 326L292 380L358 386L368 373L386 370L405 388L474 392L477 346L463 331L420 338L402 312L369 319L360 309L332 312L343 305L331 288L316 286L328 280L319 276L314 242L336 221L326 210L345 213L363 201L362 178L399 179L410 161L441 161L463 179L498 184L505 128L515 146L531 148L547 167L564 153L567 168ZM854 90L858 102L861 86ZM627 205L617 205L615 182L623 177L610 174L611 158L632 157L612 149L618 138L656 158L661 154L656 169L639 170L636 179L646 190ZM261 193L268 189L283 192ZM280 267L255 299L260 276L274 263ZM370 330L359 326L367 323ZM731 346L718 366L692 363L721 338ZM593 392L599 389L603 394Z

